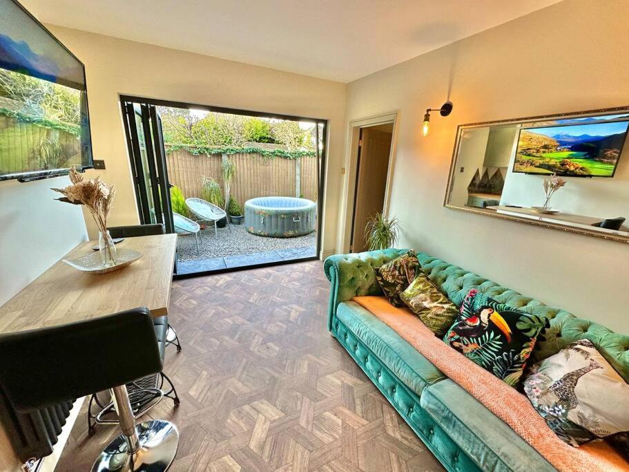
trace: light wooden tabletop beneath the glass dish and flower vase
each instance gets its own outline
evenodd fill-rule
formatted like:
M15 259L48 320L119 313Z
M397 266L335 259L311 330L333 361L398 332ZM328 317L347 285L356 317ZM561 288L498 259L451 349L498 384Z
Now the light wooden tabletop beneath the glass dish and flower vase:
M92 251L86 241L64 259ZM32 330L146 307L155 317L168 313L176 234L126 238L142 258L106 274L86 274L59 260L0 307L0 333Z

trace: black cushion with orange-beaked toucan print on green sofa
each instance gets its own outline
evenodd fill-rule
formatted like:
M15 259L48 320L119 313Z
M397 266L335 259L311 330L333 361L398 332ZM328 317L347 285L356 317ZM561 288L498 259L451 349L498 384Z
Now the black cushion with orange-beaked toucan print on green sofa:
M470 290L443 341L516 387L537 335L548 319L528 314Z

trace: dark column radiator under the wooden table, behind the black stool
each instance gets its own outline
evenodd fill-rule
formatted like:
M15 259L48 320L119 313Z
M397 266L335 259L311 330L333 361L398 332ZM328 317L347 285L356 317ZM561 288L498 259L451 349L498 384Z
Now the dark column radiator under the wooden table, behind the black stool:
M72 404L64 402L23 415L14 410L0 388L0 419L22 462L52 454Z

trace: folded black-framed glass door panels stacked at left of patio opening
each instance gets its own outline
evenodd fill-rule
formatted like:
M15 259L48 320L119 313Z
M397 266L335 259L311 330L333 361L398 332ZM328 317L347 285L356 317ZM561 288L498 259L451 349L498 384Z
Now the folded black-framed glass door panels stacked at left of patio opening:
M159 223L173 233L162 118L155 106L133 102L122 102L122 113L140 223Z

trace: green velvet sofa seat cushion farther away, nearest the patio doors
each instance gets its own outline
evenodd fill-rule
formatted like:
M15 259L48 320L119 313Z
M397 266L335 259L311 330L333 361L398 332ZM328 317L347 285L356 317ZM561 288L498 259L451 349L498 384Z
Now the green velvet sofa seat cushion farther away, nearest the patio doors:
M446 378L413 346L358 303L340 303L336 316L416 395Z

